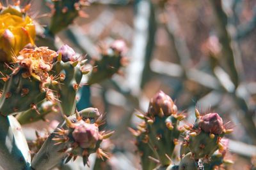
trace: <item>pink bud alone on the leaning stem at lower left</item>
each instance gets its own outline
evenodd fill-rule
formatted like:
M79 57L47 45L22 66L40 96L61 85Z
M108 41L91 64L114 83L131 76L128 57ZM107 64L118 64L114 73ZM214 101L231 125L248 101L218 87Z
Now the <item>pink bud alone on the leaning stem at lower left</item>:
M95 124L79 124L72 136L81 148L94 148L99 141L99 128Z

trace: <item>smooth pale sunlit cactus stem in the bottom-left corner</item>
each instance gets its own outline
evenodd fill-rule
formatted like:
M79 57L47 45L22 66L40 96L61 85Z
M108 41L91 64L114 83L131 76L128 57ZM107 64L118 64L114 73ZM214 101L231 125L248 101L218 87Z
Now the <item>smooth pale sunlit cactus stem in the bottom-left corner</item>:
M29 169L31 156L19 122L0 115L0 165L4 169Z

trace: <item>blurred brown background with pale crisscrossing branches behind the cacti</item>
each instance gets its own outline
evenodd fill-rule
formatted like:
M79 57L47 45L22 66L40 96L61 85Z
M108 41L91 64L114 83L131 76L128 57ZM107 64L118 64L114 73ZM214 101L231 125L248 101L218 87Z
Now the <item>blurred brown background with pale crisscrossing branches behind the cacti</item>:
M140 169L134 137L127 128L138 124L134 114L146 112L149 99L159 90L186 113L184 124L195 120L195 107L202 113L219 113L234 129L228 136L232 169L250 169L256 162L256 1L90 3L49 47L67 43L80 55L93 59L99 57L102 43L113 39L127 43L129 64L111 80L83 87L81 93L87 97L78 103L81 108L99 108L106 114L106 127L115 131L106 143L113 156L101 169ZM32 7L36 22L49 24L49 2L33 0ZM58 120L59 116L52 113L48 119ZM31 127L44 132L57 123L36 122L24 125L24 129L33 139ZM68 165L84 169L80 163ZM60 169L68 169L68 165Z

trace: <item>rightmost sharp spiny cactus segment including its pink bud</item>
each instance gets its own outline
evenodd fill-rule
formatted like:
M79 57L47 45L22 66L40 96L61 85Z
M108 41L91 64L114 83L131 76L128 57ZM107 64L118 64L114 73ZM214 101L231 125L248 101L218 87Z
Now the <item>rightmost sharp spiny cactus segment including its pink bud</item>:
M216 150L223 150L221 138L226 133L232 132L231 129L225 129L223 120L218 113L208 113L200 116L196 112L196 122L193 127L187 127L189 130L184 145L188 145L189 150L195 159L208 159Z

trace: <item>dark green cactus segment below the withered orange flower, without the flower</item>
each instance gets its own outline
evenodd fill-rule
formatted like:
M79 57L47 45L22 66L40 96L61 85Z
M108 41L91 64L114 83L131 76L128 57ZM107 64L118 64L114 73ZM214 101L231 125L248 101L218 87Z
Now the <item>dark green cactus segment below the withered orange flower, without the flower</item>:
M11 74L4 83L3 93L0 97L0 112L4 116L13 115L29 110L33 105L44 100L46 92L40 89L40 81L35 78L23 78L25 69L17 74Z

